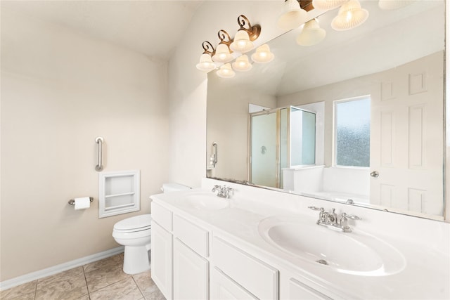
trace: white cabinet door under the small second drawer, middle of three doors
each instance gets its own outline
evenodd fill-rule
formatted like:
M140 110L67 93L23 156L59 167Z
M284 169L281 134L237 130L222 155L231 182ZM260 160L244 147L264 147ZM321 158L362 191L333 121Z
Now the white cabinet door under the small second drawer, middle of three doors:
M174 239L174 299L209 299L208 261Z

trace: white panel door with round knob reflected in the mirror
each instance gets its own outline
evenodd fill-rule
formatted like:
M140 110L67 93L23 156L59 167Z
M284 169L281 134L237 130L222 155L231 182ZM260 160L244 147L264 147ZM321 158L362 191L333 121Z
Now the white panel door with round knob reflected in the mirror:
M371 203L442 215L442 54L383 72L371 94Z

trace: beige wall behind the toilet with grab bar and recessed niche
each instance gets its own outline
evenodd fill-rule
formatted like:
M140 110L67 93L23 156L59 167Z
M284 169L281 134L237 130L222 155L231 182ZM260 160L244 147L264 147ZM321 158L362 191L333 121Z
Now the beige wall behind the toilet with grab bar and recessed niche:
M167 63L1 11L1 281L119 246L167 181L167 110ZM96 136L104 171L141 170L141 211L98 219Z

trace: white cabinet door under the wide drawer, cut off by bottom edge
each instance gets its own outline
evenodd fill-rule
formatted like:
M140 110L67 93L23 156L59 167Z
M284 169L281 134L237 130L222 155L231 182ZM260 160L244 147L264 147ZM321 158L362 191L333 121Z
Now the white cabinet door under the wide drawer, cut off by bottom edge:
M257 299L255 295L241 287L217 267L214 267L211 271L210 285L212 300Z

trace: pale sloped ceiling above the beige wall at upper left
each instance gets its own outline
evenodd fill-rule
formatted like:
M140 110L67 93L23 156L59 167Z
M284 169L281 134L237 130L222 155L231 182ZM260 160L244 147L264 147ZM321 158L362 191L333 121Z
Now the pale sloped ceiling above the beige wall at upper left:
M0 2L2 13L5 8L20 11L150 57L168 59L203 0Z

